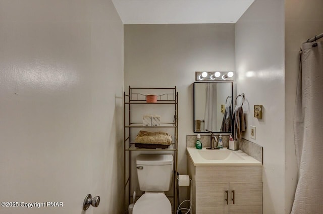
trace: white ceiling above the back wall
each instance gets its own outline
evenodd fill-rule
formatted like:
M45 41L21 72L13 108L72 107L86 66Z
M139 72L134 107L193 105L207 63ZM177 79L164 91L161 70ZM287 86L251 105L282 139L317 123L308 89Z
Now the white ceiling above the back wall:
M112 0L124 24L236 23L254 0Z

